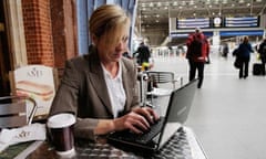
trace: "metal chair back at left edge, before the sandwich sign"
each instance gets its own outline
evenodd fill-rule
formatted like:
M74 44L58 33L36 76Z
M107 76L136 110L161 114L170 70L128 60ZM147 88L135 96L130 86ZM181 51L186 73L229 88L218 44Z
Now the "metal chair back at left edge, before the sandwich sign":
M28 115L30 105L31 112ZM37 103L27 96L4 96L0 97L0 128L12 128L30 125L37 110Z

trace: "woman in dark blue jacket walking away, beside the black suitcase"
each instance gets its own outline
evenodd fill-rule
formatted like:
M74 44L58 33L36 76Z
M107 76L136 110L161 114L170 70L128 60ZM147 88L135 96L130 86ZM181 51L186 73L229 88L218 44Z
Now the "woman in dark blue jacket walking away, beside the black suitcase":
M238 46L237 57L239 57L239 78L248 76L248 65L250 61L250 52L254 52L248 38L244 36L243 42ZM244 72L244 73L243 73Z

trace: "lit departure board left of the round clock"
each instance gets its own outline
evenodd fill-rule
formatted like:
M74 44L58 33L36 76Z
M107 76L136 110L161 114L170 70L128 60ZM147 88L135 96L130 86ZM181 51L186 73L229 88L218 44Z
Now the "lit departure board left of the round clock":
M209 28L209 18L198 19L176 19L176 29L195 29L195 28Z

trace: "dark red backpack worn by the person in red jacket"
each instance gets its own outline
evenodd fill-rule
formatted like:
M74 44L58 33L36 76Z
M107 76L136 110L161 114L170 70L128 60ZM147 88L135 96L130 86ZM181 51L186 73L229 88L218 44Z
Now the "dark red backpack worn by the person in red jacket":
M202 56L202 47L204 41L200 35L193 35L193 41L191 43L191 53L196 56Z

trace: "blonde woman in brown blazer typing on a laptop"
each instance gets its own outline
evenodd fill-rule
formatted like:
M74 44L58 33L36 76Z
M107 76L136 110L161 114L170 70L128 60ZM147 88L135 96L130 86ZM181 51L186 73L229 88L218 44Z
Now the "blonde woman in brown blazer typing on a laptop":
M136 66L123 57L130 18L119 6L105 4L92 13L89 26L93 46L89 54L65 63L50 116L76 115L74 135L81 138L147 130L158 116L152 108L139 106Z

